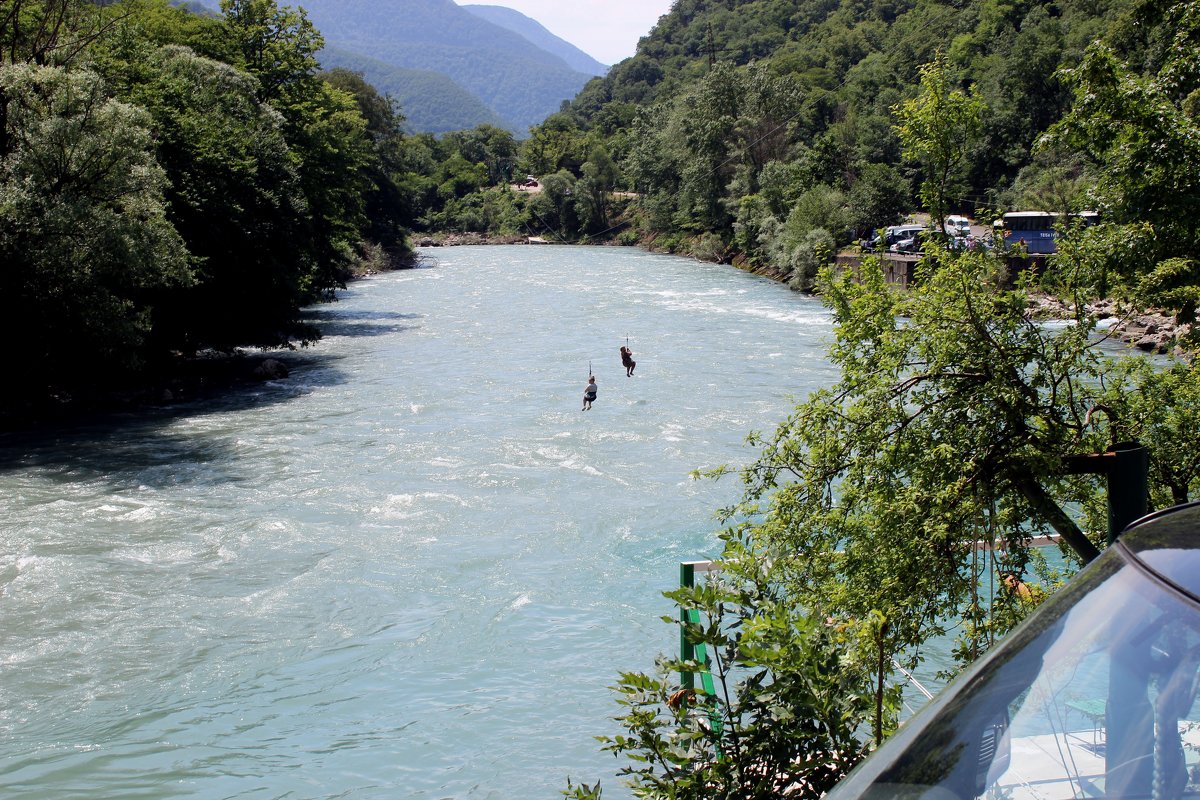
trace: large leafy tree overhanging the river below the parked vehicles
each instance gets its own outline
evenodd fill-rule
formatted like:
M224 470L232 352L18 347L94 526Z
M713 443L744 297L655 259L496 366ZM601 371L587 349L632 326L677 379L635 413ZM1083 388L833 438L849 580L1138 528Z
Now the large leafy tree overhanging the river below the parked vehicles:
M976 542L1002 543L1020 573L1043 530L1084 560L1102 535L1055 503L1082 491L1061 457L1103 450L1085 422L1104 368L1088 325L1048 336L989 258L938 259L905 294L877 267L826 275L841 379L755 438L762 455L730 510L764 515L752 535L788 554L796 602L847 620L882 613L889 655L974 613Z

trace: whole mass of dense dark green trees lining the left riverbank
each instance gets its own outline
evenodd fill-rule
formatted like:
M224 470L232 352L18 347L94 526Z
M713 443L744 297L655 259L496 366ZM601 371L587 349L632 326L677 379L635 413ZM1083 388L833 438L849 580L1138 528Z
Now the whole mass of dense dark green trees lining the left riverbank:
M7 407L311 339L304 305L408 253L398 112L319 73L301 11L221 12L0 4Z

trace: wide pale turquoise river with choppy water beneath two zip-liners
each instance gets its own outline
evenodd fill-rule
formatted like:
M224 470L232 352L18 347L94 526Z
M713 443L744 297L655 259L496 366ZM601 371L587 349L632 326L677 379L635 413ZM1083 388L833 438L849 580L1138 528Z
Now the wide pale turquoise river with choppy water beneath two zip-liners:
M739 494L690 473L833 380L829 317L628 248L425 257L286 380L0 439L4 798L629 796L608 686Z

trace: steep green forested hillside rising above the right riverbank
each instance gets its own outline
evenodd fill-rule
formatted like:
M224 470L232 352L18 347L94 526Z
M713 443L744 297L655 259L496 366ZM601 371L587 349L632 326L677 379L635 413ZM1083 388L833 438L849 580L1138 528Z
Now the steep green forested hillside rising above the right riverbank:
M809 285L817 249L924 205L929 175L902 157L895 112L937 58L949 88L983 106L978 136L964 138L944 176L946 212L1084 203L1082 162L1034 152L1070 106L1056 72L1100 38L1152 66L1162 34L1140 23L1156 19L1156 8L1129 0L679 0L634 58L534 132L529 167L582 176L600 146L619 167L616 184L642 193L648 236L708 235L709 254Z

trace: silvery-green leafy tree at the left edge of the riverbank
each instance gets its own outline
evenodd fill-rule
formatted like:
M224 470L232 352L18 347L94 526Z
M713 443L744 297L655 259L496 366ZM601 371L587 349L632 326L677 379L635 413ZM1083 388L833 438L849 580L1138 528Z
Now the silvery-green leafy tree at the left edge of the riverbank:
M193 281L150 119L82 70L2 65L0 92L10 367L35 397L118 381L145 359L149 297Z

